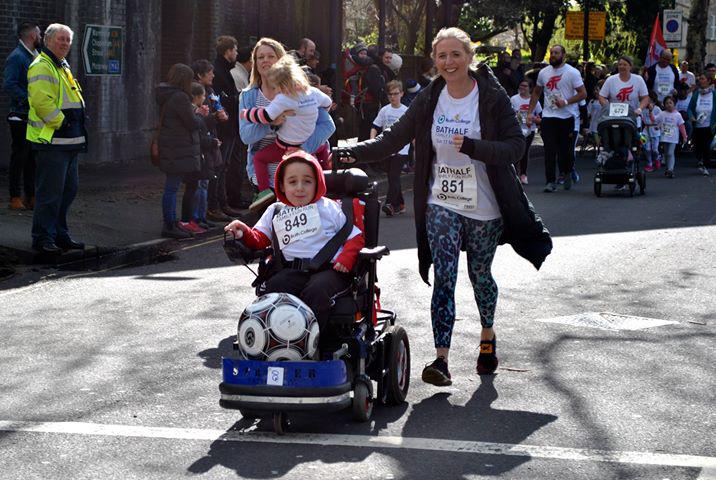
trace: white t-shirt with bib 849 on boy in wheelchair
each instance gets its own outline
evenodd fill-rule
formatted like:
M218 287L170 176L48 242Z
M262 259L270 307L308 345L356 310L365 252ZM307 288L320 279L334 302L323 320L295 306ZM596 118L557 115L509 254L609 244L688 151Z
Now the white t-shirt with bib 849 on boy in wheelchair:
M275 230L281 253L288 261L315 257L343 228L346 221L341 205L325 197L304 207L284 205L281 212L274 217L276 205L274 203L266 209L254 228L268 238L271 238ZM359 234L360 230L354 225L348 239ZM332 261L335 261L342 251L343 247L339 248Z

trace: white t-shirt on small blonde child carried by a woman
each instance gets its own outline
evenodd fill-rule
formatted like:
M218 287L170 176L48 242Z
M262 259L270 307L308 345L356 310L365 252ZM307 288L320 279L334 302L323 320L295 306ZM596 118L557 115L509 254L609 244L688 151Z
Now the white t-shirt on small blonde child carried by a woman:
M317 88L309 87L306 93L300 93L296 98L279 93L266 108L271 118L278 118L286 110L293 110L296 114L286 117L278 129L278 138L290 145L301 145L313 134L318 120L318 109L331 106L331 97Z

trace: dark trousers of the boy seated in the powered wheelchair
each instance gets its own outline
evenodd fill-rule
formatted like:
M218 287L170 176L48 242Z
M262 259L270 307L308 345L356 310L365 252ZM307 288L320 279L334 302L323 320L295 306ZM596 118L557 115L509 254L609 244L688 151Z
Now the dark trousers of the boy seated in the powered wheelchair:
M328 314L333 306L333 298L348 290L351 275L333 269L319 272L302 272L291 268L279 270L266 280L266 292L283 292L295 295L311 307L323 330L328 322Z

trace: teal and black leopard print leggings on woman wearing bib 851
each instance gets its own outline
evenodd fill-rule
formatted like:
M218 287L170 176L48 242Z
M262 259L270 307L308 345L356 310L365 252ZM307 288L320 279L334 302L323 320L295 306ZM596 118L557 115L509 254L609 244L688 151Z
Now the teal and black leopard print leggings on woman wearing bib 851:
M502 219L474 220L438 205L428 205L425 216L435 276L430 305L435 348L450 348L455 324L457 267L463 241L480 323L485 328L492 326L497 283L490 267L502 235Z

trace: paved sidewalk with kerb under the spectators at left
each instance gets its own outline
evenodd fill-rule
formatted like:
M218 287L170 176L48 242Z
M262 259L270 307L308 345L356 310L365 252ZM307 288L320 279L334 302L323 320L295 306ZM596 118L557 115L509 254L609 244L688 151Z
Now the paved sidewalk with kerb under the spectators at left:
M385 175L371 176L381 184ZM32 211L10 210L7 171L0 172L0 278L17 265L52 265L72 269L94 269L135 261L150 261L162 251L178 244L196 241L161 238L164 174L144 163L105 164L80 167L80 186L70 208L68 222L73 238L85 242L87 249L69 251L57 257L37 254L31 247ZM412 178L412 177L411 177ZM404 176L404 185L410 183ZM181 191L177 213L181 213ZM257 218L244 210L241 217L253 224ZM223 225L198 239L220 235Z

